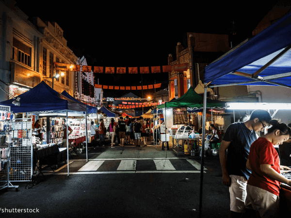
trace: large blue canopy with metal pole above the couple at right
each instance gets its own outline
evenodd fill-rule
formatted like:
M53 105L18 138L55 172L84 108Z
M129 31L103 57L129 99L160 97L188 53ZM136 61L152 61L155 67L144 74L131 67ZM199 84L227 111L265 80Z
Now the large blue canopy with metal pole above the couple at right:
M204 75L203 139L207 88L275 85L291 88L291 13L210 63ZM202 154L204 140L202 140ZM201 156L199 217L202 216L204 156Z

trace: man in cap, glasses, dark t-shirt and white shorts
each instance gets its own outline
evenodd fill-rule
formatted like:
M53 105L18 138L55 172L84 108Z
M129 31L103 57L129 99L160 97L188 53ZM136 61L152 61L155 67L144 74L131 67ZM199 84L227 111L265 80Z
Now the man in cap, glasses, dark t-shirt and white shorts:
M246 198L246 184L251 171L246 168L246 160L251 144L257 140L257 131L269 125L271 116L266 110L254 110L250 119L237 122L226 129L219 148L223 184L229 187L230 217L241 217ZM227 149L227 158L226 158Z

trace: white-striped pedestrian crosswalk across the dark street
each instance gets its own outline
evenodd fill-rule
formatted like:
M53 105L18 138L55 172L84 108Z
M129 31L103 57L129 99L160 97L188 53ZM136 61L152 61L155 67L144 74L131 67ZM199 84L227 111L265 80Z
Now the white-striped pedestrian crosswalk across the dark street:
M200 173L201 165L189 158L89 159L69 161L70 174ZM203 168L206 172L207 168ZM67 174L67 165L45 173Z

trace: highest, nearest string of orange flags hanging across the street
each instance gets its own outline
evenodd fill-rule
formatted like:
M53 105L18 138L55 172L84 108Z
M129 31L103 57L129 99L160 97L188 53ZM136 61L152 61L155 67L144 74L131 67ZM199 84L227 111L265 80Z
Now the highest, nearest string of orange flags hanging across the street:
M71 70L71 71L79 71L80 65L77 64L67 64L67 63L59 63L54 62L54 67L56 70ZM188 63L181 63L175 65L164 65L164 66L146 66L146 67L103 67L103 66L82 66L81 72L90 73L93 70L93 73L106 73L106 74L148 74L148 73L165 73L172 71L187 71Z

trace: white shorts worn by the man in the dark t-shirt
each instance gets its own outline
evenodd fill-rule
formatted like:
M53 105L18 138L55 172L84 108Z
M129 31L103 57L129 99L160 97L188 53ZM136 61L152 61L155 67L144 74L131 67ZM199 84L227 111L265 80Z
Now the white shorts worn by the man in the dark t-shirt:
M244 211L247 180L243 176L229 175L230 177L230 210L236 213Z

